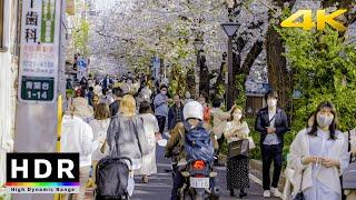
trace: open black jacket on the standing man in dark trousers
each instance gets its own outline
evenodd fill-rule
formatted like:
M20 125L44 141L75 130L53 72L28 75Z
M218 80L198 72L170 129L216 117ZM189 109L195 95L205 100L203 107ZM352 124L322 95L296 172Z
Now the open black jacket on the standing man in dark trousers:
M267 129L266 127L269 127L269 116L268 116L268 108L263 108L257 113L257 119L255 123L255 129L260 132L260 146L263 146L265 138L267 136ZM275 118L275 128L276 128L276 134L284 144L284 134L289 131L289 123L287 114L284 110L277 108L276 118Z

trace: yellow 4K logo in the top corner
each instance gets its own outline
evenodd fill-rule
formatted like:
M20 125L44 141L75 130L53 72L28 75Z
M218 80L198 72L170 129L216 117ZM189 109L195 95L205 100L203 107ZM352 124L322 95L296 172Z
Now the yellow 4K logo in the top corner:
M281 27L299 27L304 30L312 30L312 28L317 27L317 30L324 30L325 23L328 23L334 29L338 31L345 31L346 27L336 21L335 18L347 12L347 10L337 10L330 14L326 14L325 10L317 10L316 12L316 24L313 22L312 10L298 10L296 13L291 14L289 18L284 20ZM303 17L303 22L295 22L296 19Z

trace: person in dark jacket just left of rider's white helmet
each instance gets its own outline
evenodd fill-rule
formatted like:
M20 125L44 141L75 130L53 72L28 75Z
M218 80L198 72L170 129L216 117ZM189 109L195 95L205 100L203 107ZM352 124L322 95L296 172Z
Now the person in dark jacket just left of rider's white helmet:
M184 121L182 103L178 94L174 97L175 104L168 111L168 130L172 130L178 122Z

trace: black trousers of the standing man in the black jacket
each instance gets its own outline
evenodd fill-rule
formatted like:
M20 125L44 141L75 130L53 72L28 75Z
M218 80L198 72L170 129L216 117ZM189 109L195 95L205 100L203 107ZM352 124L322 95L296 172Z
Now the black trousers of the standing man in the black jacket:
M261 147L261 156L263 156L263 184L264 190L269 190L270 186L274 188L278 187L278 181L281 171L281 161L283 161L283 146L281 144L273 144ZM270 164L274 161L274 176L270 184Z

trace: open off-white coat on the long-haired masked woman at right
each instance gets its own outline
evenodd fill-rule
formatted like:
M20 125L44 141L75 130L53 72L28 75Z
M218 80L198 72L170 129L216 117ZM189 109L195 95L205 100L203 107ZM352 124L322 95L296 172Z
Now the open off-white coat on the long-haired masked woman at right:
M294 193L297 193L300 189L303 170L301 190L304 191L307 188L313 187L312 164L305 166L301 163L303 158L310 156L308 137L307 130L304 129L298 132L290 146L290 168L294 170L293 176L290 176L290 183L294 187ZM342 193L339 177L348 167L347 140L346 137L339 131L336 132L336 143L334 144L333 149L329 150L329 156L332 159L337 159L340 161L340 168L339 170L337 168L322 168L317 174L317 179L325 186L328 186L335 192Z

